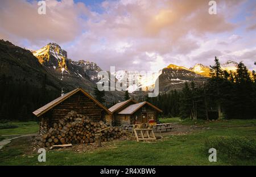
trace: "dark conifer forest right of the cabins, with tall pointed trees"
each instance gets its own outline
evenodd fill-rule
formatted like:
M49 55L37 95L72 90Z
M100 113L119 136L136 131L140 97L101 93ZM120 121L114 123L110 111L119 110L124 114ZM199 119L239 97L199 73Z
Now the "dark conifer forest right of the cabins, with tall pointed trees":
M203 86L186 82L182 91L147 98L163 109L162 116L196 119L255 119L256 75L240 62L235 72L221 69L216 57L210 66L210 78Z

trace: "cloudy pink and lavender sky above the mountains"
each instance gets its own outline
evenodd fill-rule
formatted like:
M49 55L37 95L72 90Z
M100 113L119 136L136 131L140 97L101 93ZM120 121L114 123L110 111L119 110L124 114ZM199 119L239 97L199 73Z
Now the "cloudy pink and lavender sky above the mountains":
M29 49L49 42L72 60L109 70L159 70L169 64L243 61L256 69L256 1L48 0L0 1L0 39Z

